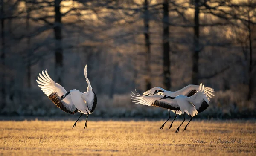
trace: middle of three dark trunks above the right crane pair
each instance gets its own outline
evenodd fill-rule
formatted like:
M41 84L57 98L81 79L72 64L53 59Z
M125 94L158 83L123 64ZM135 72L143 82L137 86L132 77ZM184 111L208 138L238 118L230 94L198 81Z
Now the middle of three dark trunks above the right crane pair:
M171 88L170 72L170 46L169 46L169 4L168 0L163 1L163 82L165 89Z

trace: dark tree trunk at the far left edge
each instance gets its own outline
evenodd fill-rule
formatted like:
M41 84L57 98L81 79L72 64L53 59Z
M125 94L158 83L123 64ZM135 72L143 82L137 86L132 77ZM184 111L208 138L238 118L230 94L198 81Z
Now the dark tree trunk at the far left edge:
M3 0L1 0L1 107L2 110L6 106L6 88L5 88L5 34L4 34L4 10Z

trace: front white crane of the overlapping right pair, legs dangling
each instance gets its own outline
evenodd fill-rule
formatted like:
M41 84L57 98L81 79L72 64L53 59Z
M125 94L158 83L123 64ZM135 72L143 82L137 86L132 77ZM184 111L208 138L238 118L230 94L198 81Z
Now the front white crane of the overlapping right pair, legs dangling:
M200 84L198 87L198 91L196 91L195 94L190 97L184 95L178 95L176 97L171 97L168 95L143 96L139 93L134 94L133 92L131 96L132 101L136 102L136 104L144 104L148 106L162 107L173 111L180 111L183 114L183 122L185 121L184 113L187 113L190 116L188 124L192 120L192 117L198 114L197 107L199 105L203 105L203 103L209 105L209 100L205 94L204 85L202 84ZM183 122L180 124L180 126L183 124ZM184 131L186 130L188 124L186 124ZM177 128L175 133L179 132L180 126Z

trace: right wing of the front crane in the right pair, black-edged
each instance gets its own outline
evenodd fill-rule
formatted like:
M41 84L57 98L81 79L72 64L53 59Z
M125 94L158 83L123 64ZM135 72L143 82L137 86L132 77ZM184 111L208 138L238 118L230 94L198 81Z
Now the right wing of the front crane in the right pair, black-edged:
M191 97L188 97L187 101L195 105L198 113L206 110L207 107L209 107L209 100L207 94L205 93L204 85L200 84L200 86L198 87L198 91Z

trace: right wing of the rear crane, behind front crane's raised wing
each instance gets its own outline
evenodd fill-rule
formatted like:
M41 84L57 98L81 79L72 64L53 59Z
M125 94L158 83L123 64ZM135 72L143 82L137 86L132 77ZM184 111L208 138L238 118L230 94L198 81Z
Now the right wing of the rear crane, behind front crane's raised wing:
M202 83L200 85L202 85ZM177 90L176 92L173 92L173 94L174 96L184 95L184 96L190 97L192 95L195 95L195 93L199 91L198 88L199 88L198 85L190 84L180 90ZM209 101L210 101L210 98L213 98L215 96L214 89L210 87L204 87L204 93L206 93Z

